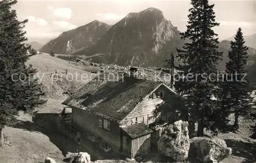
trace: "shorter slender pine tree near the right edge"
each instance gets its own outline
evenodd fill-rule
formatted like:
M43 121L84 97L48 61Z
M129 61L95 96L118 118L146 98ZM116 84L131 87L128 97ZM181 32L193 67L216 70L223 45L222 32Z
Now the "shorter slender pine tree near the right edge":
M252 99L249 95L250 84L246 75L247 50L244 45L242 29L231 41L231 50L228 52L229 62L226 63L227 80L223 84L223 109L234 112L234 127L238 128L239 116L249 115L252 110Z

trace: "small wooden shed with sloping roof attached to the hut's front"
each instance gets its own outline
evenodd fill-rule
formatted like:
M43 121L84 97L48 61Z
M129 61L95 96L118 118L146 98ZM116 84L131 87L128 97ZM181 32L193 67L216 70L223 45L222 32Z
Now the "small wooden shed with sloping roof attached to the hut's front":
M153 130L144 123L136 123L122 128L122 153L130 158L146 155L151 150Z

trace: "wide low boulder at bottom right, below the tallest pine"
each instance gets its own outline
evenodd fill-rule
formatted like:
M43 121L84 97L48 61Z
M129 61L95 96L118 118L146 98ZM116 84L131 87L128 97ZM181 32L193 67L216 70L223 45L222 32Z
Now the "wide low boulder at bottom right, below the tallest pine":
M190 139L189 157L195 157L201 162L217 163L230 156L232 149L219 138L193 137Z

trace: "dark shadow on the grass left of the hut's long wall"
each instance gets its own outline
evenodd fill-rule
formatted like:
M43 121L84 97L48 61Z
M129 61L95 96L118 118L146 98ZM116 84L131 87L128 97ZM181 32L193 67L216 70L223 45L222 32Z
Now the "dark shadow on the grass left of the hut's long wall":
M37 113L35 117L33 117L33 122L31 121L17 121L11 127L25 129L31 132L41 132L49 137L50 141L61 150L62 154L66 156L68 152L76 153L77 149L79 149L78 144L73 141L73 139L69 138L62 134L59 131L57 121L60 121L61 117L59 117L58 113ZM94 155L95 147L92 147L90 151L80 148L81 151L86 151L91 155L91 160L102 159L98 158L98 155ZM51 151L49 151L50 153ZM108 154L106 154L108 155ZM104 158L111 159L111 158Z

